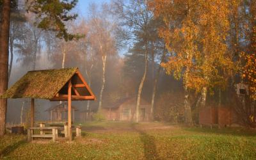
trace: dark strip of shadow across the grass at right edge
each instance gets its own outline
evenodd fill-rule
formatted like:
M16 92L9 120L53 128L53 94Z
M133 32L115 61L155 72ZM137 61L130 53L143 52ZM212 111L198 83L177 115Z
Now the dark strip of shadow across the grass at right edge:
M185 131L189 132L200 132L205 134L223 134L223 135L232 135L232 136L255 136L256 131L252 131L244 128L212 128L209 127L182 127Z

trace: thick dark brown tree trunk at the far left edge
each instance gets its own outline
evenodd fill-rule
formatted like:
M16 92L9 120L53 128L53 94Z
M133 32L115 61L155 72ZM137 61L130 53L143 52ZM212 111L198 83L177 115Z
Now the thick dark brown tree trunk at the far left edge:
M0 95L8 88L8 43L10 29L10 0L2 1L0 23ZM0 137L5 133L7 99L0 99Z

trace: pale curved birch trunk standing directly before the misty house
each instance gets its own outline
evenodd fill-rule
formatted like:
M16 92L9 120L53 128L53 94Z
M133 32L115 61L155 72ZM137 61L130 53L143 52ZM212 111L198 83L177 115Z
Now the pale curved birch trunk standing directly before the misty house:
M140 116L140 96L141 96L141 92L142 92L142 88L143 88L143 84L145 81L145 78L147 76L147 68L148 68L148 46L146 44L145 46L146 52L145 52L145 68L144 68L144 74L141 78L140 81L140 86L139 86L139 90L138 90L138 96L137 96L137 101L136 101L136 122L139 122L139 116Z

